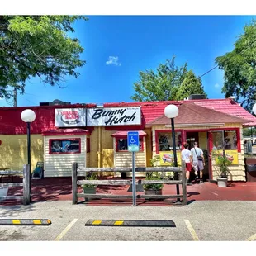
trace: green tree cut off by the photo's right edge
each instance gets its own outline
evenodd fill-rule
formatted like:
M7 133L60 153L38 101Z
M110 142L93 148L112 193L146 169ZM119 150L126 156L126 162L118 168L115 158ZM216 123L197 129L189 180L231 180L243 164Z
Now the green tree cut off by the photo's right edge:
M224 70L225 97L234 96L241 106L252 110L256 100L256 22L244 26L244 34L235 42L234 50L216 58L219 69Z

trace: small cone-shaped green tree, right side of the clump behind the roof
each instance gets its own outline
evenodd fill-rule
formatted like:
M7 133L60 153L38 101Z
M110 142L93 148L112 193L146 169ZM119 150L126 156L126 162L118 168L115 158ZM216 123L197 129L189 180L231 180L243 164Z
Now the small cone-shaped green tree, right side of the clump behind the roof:
M197 78L192 70L189 70L183 79L183 83L178 87L178 92L176 93L175 100L181 101L184 98L189 97L189 95L191 94L206 95L206 92L204 92L201 78Z

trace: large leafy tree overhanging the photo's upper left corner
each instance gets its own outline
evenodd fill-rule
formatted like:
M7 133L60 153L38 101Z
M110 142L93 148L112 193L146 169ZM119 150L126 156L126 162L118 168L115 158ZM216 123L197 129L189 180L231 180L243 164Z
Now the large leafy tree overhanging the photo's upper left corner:
M24 92L32 77L51 86L68 76L78 78L76 69L85 64L79 59L83 47L69 33L79 19L88 20L83 16L0 16L0 97L12 97L12 88Z

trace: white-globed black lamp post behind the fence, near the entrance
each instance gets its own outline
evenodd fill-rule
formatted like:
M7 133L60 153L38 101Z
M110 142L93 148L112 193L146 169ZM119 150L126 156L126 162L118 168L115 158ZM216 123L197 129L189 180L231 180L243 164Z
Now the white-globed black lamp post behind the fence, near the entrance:
M174 131L174 118L178 116L178 107L176 105L168 105L164 109L164 115L171 119L172 122L172 136L173 136L173 157L174 157L174 166L177 167L177 153L176 153L176 141L175 141L175 131ZM178 180L178 173L176 172L174 178ZM179 195L179 185L176 184L177 195ZM180 199L178 198L179 202Z

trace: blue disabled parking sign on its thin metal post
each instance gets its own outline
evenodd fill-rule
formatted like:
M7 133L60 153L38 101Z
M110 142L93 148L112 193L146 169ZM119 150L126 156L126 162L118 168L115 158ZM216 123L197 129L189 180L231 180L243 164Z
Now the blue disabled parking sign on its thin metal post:
M129 131L127 134L128 151L132 152L132 205L136 206L136 173L135 152L140 149L139 132Z

